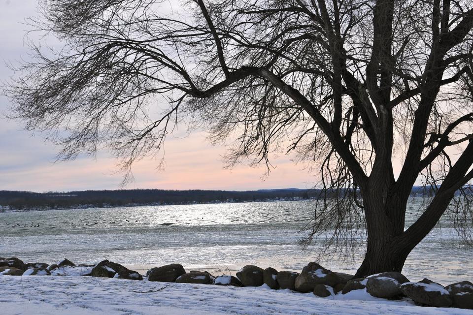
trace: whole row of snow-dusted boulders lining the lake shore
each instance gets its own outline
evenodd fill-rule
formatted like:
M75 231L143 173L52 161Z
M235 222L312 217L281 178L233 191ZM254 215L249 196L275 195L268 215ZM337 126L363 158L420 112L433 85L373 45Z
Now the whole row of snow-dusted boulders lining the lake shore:
M55 264L42 262L24 263L16 257L0 257L0 275L3 276L91 276L128 279L135 281L213 284L232 286L261 286L271 289L289 289L294 292L313 292L326 298L364 290L370 295L387 300L411 299L416 305L430 307L455 307L473 309L473 284L462 281L443 286L429 279L419 282L409 280L398 272L386 272L367 278L353 279L352 275L333 272L315 262L308 263L298 272L262 269L254 265L241 268L236 277L212 275L207 271L186 272L181 264L154 267L140 275L121 264L103 260L96 265L76 265L68 259Z

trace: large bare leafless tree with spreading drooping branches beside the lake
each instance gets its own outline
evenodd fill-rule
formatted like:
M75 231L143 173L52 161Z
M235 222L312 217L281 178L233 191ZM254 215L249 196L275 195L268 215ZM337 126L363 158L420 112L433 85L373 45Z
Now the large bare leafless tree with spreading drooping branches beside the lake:
M32 24L65 46L37 47L18 69L11 117L46 131L61 158L105 148L125 171L177 123L233 139L230 164L269 164L289 142L322 176L309 238L329 230L337 249L366 230L357 277L401 271L444 214L469 237L470 0L167 3L40 0ZM432 198L405 227L419 180Z

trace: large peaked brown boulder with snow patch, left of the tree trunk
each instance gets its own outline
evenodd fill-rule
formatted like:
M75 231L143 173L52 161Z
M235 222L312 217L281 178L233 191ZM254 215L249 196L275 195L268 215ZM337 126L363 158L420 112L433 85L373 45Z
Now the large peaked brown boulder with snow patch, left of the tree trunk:
M315 262L310 262L296 278L295 286L296 290L306 293L313 291L316 284L326 284L334 287L339 283L342 283L342 281L334 272Z

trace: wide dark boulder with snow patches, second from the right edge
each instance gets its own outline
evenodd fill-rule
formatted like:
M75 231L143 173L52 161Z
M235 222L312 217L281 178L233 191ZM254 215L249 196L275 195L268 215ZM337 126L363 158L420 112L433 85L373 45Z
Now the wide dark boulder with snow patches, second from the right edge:
M440 284L406 282L401 285L401 290L407 297L418 304L449 307L453 303L450 293Z

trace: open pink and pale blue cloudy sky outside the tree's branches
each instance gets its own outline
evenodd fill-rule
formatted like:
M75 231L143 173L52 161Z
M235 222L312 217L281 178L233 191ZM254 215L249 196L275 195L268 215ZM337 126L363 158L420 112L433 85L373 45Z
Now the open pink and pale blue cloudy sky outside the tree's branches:
M0 0L0 81L13 75L7 64L26 59L25 18L37 15L36 0ZM55 162L58 148L15 121L7 121L8 100L0 96L0 190L69 191L120 189L122 175L106 152L97 158L80 157ZM310 188L316 174L284 155L273 159L275 168L265 177L265 168L238 165L225 168L224 147L212 147L205 133L197 131L184 139L167 139L164 170L152 158L133 167L135 181L127 189L225 189L253 190Z

